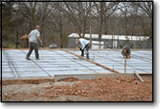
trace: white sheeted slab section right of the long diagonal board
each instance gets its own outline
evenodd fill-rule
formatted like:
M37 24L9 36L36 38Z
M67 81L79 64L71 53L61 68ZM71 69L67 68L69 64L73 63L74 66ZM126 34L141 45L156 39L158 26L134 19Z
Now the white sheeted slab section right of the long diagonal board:
M81 51L69 51L81 55ZM125 59L120 51L90 50L89 57L94 62L124 73ZM134 73L134 71L137 73L152 73L152 51L131 51L131 58L126 59L126 73Z

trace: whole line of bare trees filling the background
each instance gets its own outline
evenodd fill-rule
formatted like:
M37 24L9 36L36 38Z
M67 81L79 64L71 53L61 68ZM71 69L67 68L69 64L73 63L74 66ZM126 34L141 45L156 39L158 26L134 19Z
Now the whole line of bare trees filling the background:
M152 2L2 2L2 44L41 27L45 46L68 47L68 35L152 37Z

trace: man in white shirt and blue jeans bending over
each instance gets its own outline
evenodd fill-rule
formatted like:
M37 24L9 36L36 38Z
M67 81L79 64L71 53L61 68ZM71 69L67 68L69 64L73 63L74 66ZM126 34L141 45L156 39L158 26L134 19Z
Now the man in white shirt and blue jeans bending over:
M80 50L81 50L81 56L84 56L84 49L86 48L86 58L89 59L89 46L90 46L90 41L84 39L84 38L79 38L76 39L76 43L80 44ZM76 50L78 50L78 47L76 47Z

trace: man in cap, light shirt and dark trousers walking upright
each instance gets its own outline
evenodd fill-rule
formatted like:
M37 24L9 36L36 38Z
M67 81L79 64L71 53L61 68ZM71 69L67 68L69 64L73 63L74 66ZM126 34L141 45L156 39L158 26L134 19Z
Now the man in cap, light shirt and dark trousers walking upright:
M43 46L42 40L40 39L40 26L36 26L36 28L34 30L32 30L28 36L23 36L22 38L29 38L29 52L26 56L26 59L31 60L29 57L33 51L33 49L35 50L35 56L36 56L36 60L40 60L39 59L39 54L38 54L38 45L37 45L37 39L39 39L39 41L41 42L41 45Z

